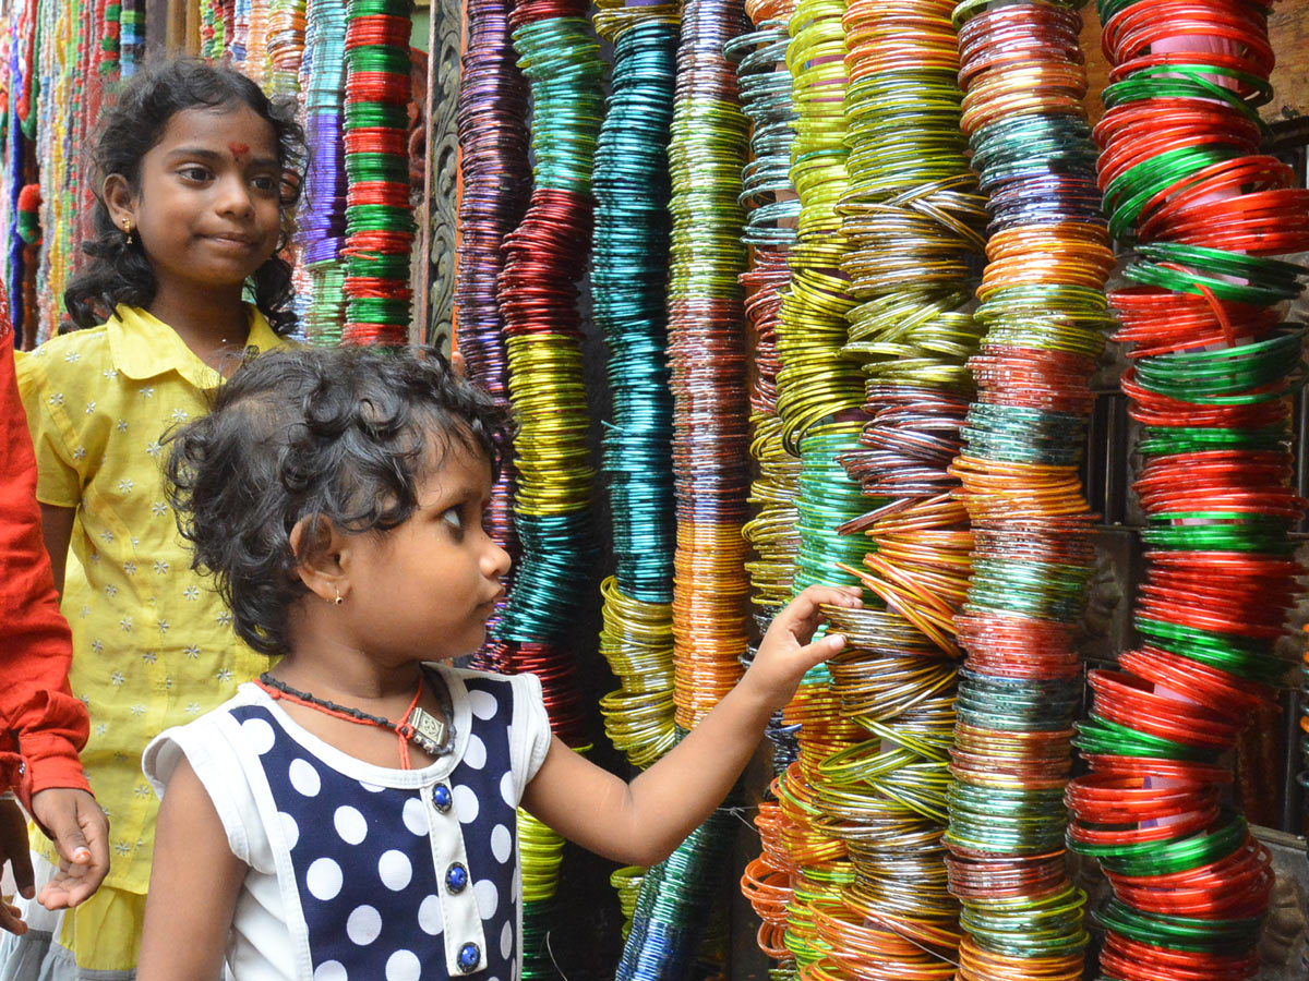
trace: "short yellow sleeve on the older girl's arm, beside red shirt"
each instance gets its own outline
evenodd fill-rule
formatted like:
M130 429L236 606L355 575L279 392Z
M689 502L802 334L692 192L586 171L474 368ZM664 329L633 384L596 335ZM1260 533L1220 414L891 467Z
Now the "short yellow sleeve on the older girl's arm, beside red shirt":
M56 508L76 508L81 501L88 453L77 447L64 400L62 381L47 373L50 358L41 353L14 354L18 394L27 412L27 429L37 451L37 500Z

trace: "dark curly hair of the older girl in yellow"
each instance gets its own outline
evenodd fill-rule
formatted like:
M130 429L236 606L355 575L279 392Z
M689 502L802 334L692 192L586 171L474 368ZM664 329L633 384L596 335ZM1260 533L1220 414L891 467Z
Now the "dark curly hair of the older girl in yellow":
M64 307L75 327L102 323L119 303L149 306L157 283L140 243L130 245L114 225L101 196L110 174L127 181L134 194L141 187L141 160L160 141L168 120L187 109L223 110L249 106L272 126L278 143L281 181L281 235L278 250L250 277L254 303L276 334L296 327L292 309L295 289L291 264L283 250L291 241L293 213L300 200L308 150L305 132L296 122L295 101L270 99L240 72L206 64L194 58L160 61L132 76L118 99L101 119L93 152L96 204L92 209L93 237L82 243L90 262L64 290Z

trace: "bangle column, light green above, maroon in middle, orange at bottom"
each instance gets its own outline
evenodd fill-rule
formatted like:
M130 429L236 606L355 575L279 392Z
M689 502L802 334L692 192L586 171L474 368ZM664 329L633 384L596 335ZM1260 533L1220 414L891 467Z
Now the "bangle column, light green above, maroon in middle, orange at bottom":
M749 392L737 277L749 123L724 43L738 0L683 7L669 169L673 182L668 356L673 390L677 723L694 727L741 675L749 493Z

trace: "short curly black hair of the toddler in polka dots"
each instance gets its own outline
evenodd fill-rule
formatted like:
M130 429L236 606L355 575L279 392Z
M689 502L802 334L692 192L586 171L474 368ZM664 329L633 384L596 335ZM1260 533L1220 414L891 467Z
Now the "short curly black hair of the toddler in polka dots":
M322 519L384 534L418 506L418 484L462 447L492 476L508 412L458 378L435 348L274 351L247 360L213 409L169 434L169 498L192 568L212 574L237 634L268 655L288 649L296 576ZM433 458L435 456L435 458Z

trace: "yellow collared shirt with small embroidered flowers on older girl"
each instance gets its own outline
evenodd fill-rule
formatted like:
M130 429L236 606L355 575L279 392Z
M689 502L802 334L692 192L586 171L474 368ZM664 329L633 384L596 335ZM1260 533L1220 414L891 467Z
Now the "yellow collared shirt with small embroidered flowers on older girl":
M278 347L250 307L249 344ZM37 497L76 508L63 612L73 693L90 712L82 765L110 819L106 886L145 892L158 804L145 744L236 693L268 659L242 644L212 582L191 572L164 492L169 429L204 415L217 371L165 323L119 306L99 327L20 354ZM43 837L38 850L58 861Z

